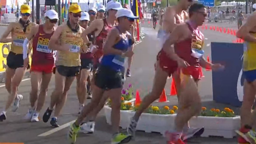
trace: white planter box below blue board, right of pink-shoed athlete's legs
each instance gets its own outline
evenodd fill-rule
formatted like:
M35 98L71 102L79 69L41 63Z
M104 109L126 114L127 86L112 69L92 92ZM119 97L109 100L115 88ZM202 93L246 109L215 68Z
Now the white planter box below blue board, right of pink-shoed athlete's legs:
M201 137L220 136L224 138L234 138L235 130L240 127L240 116L236 117L193 117L189 121L191 127L204 127Z

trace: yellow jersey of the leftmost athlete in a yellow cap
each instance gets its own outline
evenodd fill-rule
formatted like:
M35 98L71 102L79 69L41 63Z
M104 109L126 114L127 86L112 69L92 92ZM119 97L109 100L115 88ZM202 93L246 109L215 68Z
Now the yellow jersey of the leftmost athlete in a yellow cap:
M19 22L15 22L13 29L11 31L12 37L13 37L13 42L11 45L11 51L16 53L16 54L22 54L23 53L23 43L24 40L26 39L26 35L30 33L31 27L35 26L36 24L31 22L27 26L27 30L24 33L23 27ZM29 51L31 50L31 43L29 43Z

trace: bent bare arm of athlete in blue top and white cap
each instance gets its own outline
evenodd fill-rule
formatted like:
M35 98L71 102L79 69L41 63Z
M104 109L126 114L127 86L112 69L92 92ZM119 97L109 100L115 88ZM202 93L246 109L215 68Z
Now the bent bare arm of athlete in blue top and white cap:
M116 28L112 29L109 32L107 36L107 41L103 46L103 54L122 55L123 51L113 48L113 45L116 44L116 39L118 38L118 36L119 36L119 31Z

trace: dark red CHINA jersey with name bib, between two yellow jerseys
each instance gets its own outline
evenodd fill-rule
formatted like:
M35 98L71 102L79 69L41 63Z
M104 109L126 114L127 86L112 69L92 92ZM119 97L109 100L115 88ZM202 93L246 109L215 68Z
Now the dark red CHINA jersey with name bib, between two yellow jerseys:
M37 34L34 36L32 65L53 65L53 50L49 49L48 44L54 31L51 34L44 32L43 25L39 25Z

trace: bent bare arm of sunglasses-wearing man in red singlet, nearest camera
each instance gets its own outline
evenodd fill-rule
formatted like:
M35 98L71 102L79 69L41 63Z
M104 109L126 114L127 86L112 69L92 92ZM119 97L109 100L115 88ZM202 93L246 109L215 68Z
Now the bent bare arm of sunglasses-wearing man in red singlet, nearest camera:
M165 41L163 50L172 60L178 61L180 59L180 57L175 53L174 47L172 45L188 38L189 34L191 33L188 29L188 26L182 23L173 29L172 33Z

